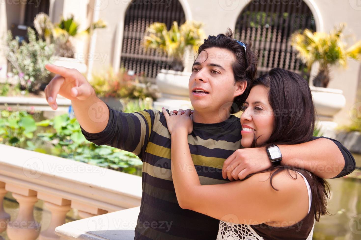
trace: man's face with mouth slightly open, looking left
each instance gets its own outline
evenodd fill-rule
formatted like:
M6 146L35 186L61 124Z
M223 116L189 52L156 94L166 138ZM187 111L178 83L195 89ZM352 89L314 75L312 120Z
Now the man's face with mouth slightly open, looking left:
M189 98L196 111L223 115L221 112L228 110L234 98L244 92L247 83L234 80L234 61L234 54L226 49L210 47L201 51L188 83Z

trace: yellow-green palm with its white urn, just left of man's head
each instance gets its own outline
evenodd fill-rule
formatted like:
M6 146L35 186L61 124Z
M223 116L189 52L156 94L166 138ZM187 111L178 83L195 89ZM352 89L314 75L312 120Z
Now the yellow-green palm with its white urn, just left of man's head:
M162 58L173 70L162 69L157 74L156 83L161 98L154 103L155 108L171 109L191 107L188 96L190 62L197 50L197 45L204 40L203 24L186 21L180 27L173 22L170 30L165 23L153 23L144 33L143 47L146 51L155 50L155 58ZM160 55L160 56L159 56Z

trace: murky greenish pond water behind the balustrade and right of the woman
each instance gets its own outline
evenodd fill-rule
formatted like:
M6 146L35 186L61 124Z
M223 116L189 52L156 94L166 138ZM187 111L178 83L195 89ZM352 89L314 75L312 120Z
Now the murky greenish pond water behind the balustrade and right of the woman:
M361 155L354 154L356 165L361 166ZM331 198L328 203L330 214L322 216L316 222L314 240L361 240L361 180L355 178L338 178L327 180L331 185ZM19 204L7 193L4 209L14 220ZM34 218L42 224L42 230L49 226L50 212L44 208L43 201L35 204ZM66 215L66 222L80 219L76 209L71 209ZM0 234L8 240L6 232Z

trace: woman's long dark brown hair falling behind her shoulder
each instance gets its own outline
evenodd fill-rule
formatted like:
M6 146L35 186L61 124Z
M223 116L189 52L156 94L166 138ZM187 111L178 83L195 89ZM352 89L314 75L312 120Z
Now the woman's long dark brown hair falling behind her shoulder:
M311 90L306 80L294 72L274 68L253 81L249 91L257 85L269 89L268 100L273 109L275 120L270 138L266 142L257 144L255 137L252 147L267 147L272 144L300 144L311 141L315 124L315 110ZM262 171L271 172L270 182L273 189L275 188L272 185L272 178L285 169L288 173L294 170L307 174L304 169L290 166L271 167ZM252 175L254 174L248 175L246 178ZM310 175L312 179L309 181L312 192L312 209L316 221L319 221L321 215L328 213L326 207L327 199L330 196L330 185L323 178L317 177L313 173Z

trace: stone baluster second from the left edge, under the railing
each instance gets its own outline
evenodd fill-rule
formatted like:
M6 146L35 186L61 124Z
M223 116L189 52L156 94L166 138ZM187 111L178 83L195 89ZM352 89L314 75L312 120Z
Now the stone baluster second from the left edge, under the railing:
M40 224L35 221L33 209L38 201L36 191L25 187L6 184L5 189L13 193L19 203L19 213L14 221L9 222L6 233L10 240L35 240L40 234Z

